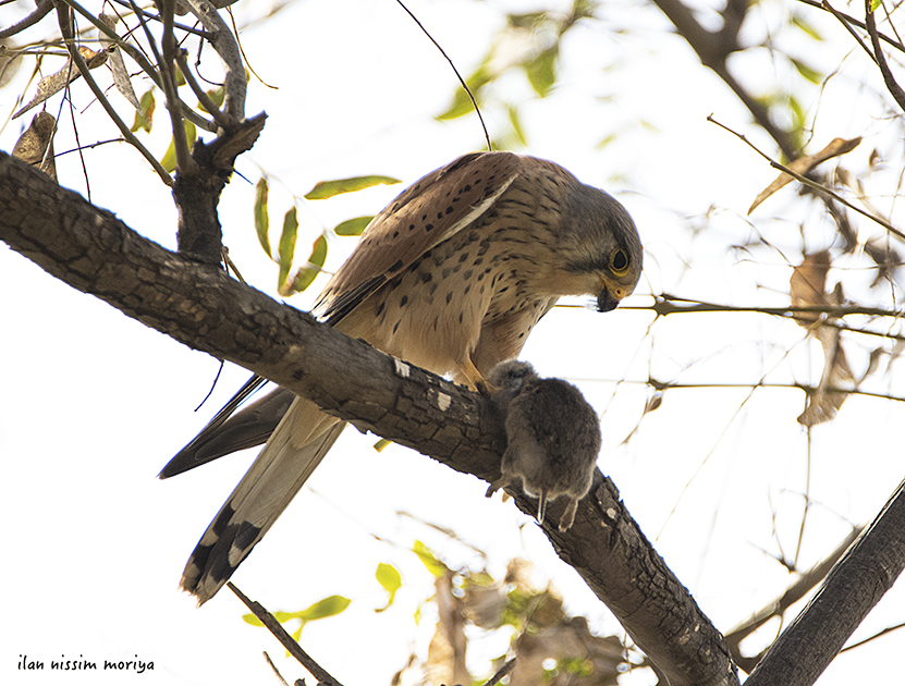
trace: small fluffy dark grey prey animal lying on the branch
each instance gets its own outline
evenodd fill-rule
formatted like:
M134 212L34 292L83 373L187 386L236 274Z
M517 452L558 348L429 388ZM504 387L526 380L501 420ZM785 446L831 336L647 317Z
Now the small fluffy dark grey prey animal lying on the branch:
M541 379L528 363L500 363L488 381L499 388L493 401L505 417L507 443L502 476L487 489L487 497L521 480L525 494L538 499L537 522L543 524L548 501L566 495L559 529L567 530L597 468L597 413L574 385Z

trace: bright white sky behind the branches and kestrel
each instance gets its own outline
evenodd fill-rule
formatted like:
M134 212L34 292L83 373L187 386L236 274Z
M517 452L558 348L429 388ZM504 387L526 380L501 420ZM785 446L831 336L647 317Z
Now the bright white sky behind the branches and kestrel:
M266 110L270 119L254 150L240 161L240 171L252 183L233 180L221 219L243 275L269 293L274 291L276 266L262 255L252 224L253 183L259 170L271 175L271 223L279 224L290 207L289 193L301 196L317 181L379 173L408 184L480 145L474 118L432 120L448 106L455 82L443 58L400 8L390 0L350 0L342 7L338 14L338 3L326 0L296 3L242 35L255 70L279 89L253 82L247 113ZM411 2L464 73L500 26L494 7L465 0ZM769 8L805 12L795 3ZM809 46L805 57L811 66L830 71L849 50L846 35L815 16L816 11L806 14L823 28L830 45L819 50ZM787 304L786 260L800 258L798 222L814 223L814 217L800 209L786 215L794 199L790 187L745 218L753 197L773 173L706 117L713 112L769 152L773 148L748 125L727 89L669 34L656 10L624 3L603 16L574 32L565 48L566 70L548 101L534 101L515 75L501 88L523 105L531 154L554 159L583 181L614 193L635 217L647 250L646 275L638 295L625 305L645 305L649 298L644 294L663 291L719 303ZM771 30L775 26L773 22ZM631 30L617 33L623 27ZM746 30L754 39L756 22ZM895 127L871 95L876 81L869 87L858 85L864 73L859 59L847 58L843 73L823 93L814 144L817 150L835 136L866 135L846 161L855 170L866 168L873 146L901 151L888 143ZM763 50L734 66L747 83L765 90L778 82L800 83ZM144 89L137 88L139 94ZM3 93L5 118L16 90ZM805 102L812 113L818 91L804 93L814 98ZM110 125L93 121L101 118L97 103L89 106L84 85L76 86L74 97L80 110L88 107L78 124L83 143L113 137ZM56 110L59 97L51 105ZM118 105L127 112L127 106ZM500 130L500 110L490 108L485 117L491 130ZM72 146L68 118L58 152ZM162 154L162 106L156 122L150 145ZM19 132L17 120L0 133L0 147L11 149ZM616 142L598 151L597 143L610 134L619 136ZM97 205L174 247L172 200L136 154L125 146L101 146L85 160ZM58 169L63 185L84 192L76 156L61 158ZM895 173L893 160L891 177ZM894 183L883 185L888 180L882 175L870 181L877 181L880 195L895 188ZM299 253L321 226L372 213L401 188L308 204L299 212L308 231L299 234ZM700 231L693 235L689 225ZM760 247L745 254L729 247L757 235L778 250ZM811 249L831 240L829 232L821 235L814 229L808 236ZM353 245L347 238L331 242L328 268ZM846 266L865 264L852 258ZM834 270L831 283L840 278L843 272ZM844 272L847 294L890 306L889 289L866 287L870 278ZM0 628L0 682L266 683L272 677L261 650L269 651L288 681L305 676L283 659L268 634L242 622L244 608L229 591L196 610L176 588L185 559L254 453L166 482L155 479L247 372L228 368L215 397L194 414L217 371L216 360L77 293L5 247L0 247L0 369L7 384L0 394L0 455L7 466L0 512L12 523L2 577L8 602ZM309 298L303 294L292 304L304 308ZM778 551L773 524L787 554L795 546L808 460L806 434L795 422L802 395L759 390L742 406L745 389L672 391L623 445L649 391L643 384L615 382L651 375L686 383L744 383L768 372L768 380L776 382L816 382L822 356L803 342L803 330L794 323L765 316L675 316L649 329L650 322L645 311L601 316L560 308L531 334L522 357L546 376L574 380L598 412L606 411L601 469L613 477L629 511L648 537L658 539L658 551L704 611L727 630L793 580L761 549ZM848 345L853 367L861 370L877 342L853 339ZM886 375L871 389L901 395L900 387ZM847 532L846 522L872 518L901 481L903 420L898 404L854 397L835 421L812 432L809 492L817 505L805 531L803 567L835 547ZM426 646L430 614L420 627L413 614L431 595L432 578L405 550L416 538L440 551L451 566L480 564L474 551L398 511L455 529L488 552L496 573L512 556L527 558L541 581L552 579L564 592L571 612L587 615L596 630L619 630L606 608L511 503L486 500L482 482L411 451L392 446L378 454L370 448L374 441L347 431L310 488L234 577L270 610L298 610L332 593L352 598L343 615L314 623L303 635L305 649L342 683L388 683L413 646ZM374 580L380 562L398 565L405 586L392 609L376 614L384 603ZM900 585L856 637L902 622L904 615ZM766 634L760 640L768 640ZM890 657L903 648L905 632L893 633L842 656L818 683L863 683L866 676L890 683L900 672ZM484 657L503 648L494 649ZM152 660L155 670L90 673L90 678L47 670L26 674L16 670L21 654L48 663L61 654L100 662L137 656ZM475 658L473 673L480 676L488 664ZM652 676L641 672L626 683L652 683Z

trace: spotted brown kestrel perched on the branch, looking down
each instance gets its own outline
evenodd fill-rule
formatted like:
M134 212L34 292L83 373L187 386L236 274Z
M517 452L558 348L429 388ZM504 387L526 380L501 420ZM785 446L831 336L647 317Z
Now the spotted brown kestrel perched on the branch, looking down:
M518 355L561 296L590 294L609 311L635 289L641 258L632 218L607 193L553 162L473 152L375 217L311 313L384 353L486 389L485 375ZM199 604L264 537L344 427L283 389L227 419L255 384L160 474L267 441L185 565L182 588Z

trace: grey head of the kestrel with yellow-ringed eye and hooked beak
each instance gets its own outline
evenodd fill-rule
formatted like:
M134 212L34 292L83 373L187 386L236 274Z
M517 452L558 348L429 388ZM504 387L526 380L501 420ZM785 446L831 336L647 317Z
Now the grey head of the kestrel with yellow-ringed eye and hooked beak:
M568 294L594 295L601 313L631 295L641 277L644 249L635 222L615 198L592 186L571 189L557 252Z

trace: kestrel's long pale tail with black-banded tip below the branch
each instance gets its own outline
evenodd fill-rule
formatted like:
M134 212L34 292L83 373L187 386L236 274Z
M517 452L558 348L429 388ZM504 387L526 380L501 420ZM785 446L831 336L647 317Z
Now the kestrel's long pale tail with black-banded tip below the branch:
M181 586L201 604L227 583L286 509L345 422L296 399L198 541Z

